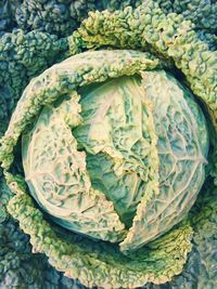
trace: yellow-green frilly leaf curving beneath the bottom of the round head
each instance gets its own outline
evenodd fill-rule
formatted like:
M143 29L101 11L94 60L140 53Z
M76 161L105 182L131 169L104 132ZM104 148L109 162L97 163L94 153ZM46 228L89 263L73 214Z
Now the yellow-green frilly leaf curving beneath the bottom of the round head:
M188 223L126 258L107 244L80 241L76 237L69 242L62 240L21 189L16 189L8 210L30 235L34 252L46 253L56 270L88 287L135 288L148 281L163 284L181 273L191 250L192 229Z

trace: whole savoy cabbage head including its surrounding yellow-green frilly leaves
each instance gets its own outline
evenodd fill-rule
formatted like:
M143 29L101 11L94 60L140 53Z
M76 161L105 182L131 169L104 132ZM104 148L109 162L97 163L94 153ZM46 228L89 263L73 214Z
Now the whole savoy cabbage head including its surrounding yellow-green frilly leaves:
M216 98L196 61L186 68L190 24L174 15L179 28L169 39L166 26L153 25L157 42L146 28L130 36L122 17L148 21L143 5L90 14L68 38L75 55L29 82L0 147L14 193L9 212L35 252L88 287L135 288L180 274L193 235L188 213L216 176Z

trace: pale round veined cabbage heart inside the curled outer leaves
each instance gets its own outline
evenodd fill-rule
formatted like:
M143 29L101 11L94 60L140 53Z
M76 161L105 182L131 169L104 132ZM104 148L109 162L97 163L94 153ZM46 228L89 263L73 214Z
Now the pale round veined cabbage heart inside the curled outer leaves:
M205 118L190 91L165 71L144 71L79 94L44 107L23 136L26 182L40 207L62 226L102 239L99 232L118 218L104 239L123 240L125 234L112 234L132 225L149 181L149 103L159 176L153 222L178 223L203 185L208 152Z

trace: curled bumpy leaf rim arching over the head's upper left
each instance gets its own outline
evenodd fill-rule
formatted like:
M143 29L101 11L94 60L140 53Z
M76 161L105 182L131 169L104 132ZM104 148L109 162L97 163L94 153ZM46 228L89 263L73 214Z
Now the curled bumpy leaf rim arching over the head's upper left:
M101 53L100 58L99 53ZM61 95L73 93L78 87L88 83L102 82L107 78L123 75L135 75L142 69L162 66L159 60L149 53L137 51L97 51L86 52L82 56L82 60L79 54L69 57L30 81L17 103L4 136L0 140L2 168L5 170L10 168L13 162L13 147L43 105L53 103Z

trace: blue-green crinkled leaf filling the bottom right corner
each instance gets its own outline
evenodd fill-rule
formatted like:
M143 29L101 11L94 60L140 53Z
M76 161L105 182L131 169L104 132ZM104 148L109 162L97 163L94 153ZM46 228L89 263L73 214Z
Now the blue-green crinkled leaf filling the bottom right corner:
M217 288L217 187L207 180L192 208L189 220L193 226L192 251L182 274L176 276L165 289ZM150 286L149 289L159 289Z

